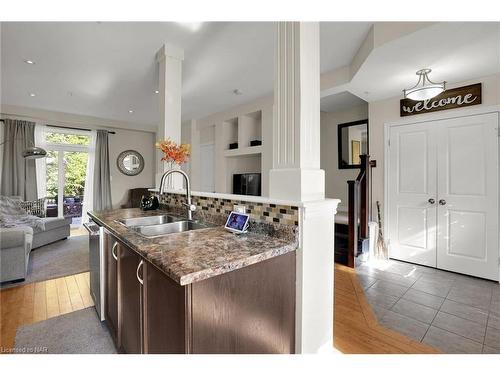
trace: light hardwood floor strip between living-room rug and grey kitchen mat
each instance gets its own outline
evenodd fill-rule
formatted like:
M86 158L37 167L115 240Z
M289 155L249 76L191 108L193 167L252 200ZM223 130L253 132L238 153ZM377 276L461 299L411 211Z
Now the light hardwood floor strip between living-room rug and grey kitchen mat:
M85 272L1 290L0 348L14 345L21 325L93 306L89 276Z

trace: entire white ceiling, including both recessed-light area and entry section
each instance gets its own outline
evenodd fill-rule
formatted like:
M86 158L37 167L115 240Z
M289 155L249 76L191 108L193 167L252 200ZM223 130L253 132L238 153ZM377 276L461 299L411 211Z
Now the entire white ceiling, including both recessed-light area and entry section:
M321 72L348 66L370 27L322 22ZM154 55L166 42L185 51L183 119L272 93L273 23L2 23L2 102L153 130L159 118ZM383 44L343 92L322 99L321 108L400 95L423 67L432 68L431 79L450 83L500 72L500 23L437 23ZM243 95L234 95L236 88Z

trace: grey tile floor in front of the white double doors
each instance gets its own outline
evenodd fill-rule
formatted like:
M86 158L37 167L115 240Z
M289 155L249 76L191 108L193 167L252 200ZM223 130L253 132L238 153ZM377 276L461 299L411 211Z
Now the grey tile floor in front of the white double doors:
M399 262L358 262L380 323L444 353L500 354L500 284Z

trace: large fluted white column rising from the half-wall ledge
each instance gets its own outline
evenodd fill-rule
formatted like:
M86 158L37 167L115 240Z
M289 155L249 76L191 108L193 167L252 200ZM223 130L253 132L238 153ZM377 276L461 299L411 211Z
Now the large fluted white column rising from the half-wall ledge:
M319 68L319 24L278 22L271 197L298 201L325 197Z

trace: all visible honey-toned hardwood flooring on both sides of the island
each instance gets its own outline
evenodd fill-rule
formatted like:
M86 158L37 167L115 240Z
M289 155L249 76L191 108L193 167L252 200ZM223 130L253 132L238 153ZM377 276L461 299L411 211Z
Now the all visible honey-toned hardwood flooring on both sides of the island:
M343 353L439 353L378 324L354 270L335 265L334 346ZM14 345L19 326L92 306L89 273L0 291L0 347Z

